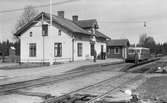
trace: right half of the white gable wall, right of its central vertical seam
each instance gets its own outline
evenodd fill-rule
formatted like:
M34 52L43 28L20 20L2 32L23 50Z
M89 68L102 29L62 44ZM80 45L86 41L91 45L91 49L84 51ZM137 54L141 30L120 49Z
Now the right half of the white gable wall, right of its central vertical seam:
M52 27L52 30L49 28L49 36L47 38L48 43L46 43L47 57L49 59L56 59L56 61L71 61L72 60L72 38L69 34L61 31L61 36L58 35L58 29ZM54 57L54 43L62 43L62 57Z

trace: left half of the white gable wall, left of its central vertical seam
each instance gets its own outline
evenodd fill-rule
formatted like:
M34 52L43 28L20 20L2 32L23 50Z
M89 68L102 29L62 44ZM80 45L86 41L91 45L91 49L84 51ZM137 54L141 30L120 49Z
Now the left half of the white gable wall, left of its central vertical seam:
M42 60L42 29L39 27L40 24L34 25L34 27L27 30L20 37L21 39L21 62L34 62ZM32 37L30 37L30 32L32 32ZM29 57L29 43L37 44L37 56Z

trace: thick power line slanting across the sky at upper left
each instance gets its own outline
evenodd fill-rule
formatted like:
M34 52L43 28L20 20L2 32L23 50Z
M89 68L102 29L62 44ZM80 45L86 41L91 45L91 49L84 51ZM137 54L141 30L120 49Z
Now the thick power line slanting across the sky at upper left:
M62 2L52 3L52 5L53 6L55 6L55 5L62 5L62 4L71 3L71 2L74 2L74 1L78 1L78 0L66 0L66 1L62 1ZM48 6L50 6L50 4L37 5L37 6L33 6L33 7L34 8L42 8L42 7L48 7ZM22 10L24 10L24 8L2 10L2 11L0 11L0 13L3 14L3 13L22 11Z

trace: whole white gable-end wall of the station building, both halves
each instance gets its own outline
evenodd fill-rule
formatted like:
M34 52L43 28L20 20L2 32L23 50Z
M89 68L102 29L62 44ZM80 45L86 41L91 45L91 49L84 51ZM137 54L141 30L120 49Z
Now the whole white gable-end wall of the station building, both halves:
M56 27L48 27L48 36L42 37L42 28L40 23L34 25L29 30L27 30L21 36L21 62L42 62L43 60L43 43L44 43L44 58L48 62L51 60L58 61L69 61L72 59L72 38L61 32L61 36L58 35L58 29ZM33 36L30 37L29 33L32 32ZM44 41L44 42L43 42ZM54 57L54 43L62 43L62 57ZM37 44L37 56L29 57L29 43Z

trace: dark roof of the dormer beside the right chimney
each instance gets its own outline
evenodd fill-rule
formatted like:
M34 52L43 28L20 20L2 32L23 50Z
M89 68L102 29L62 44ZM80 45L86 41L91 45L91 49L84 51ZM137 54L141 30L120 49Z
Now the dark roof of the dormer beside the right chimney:
M75 23L82 28L91 28L94 24L96 25L96 28L98 28L96 19L79 20L78 22Z

